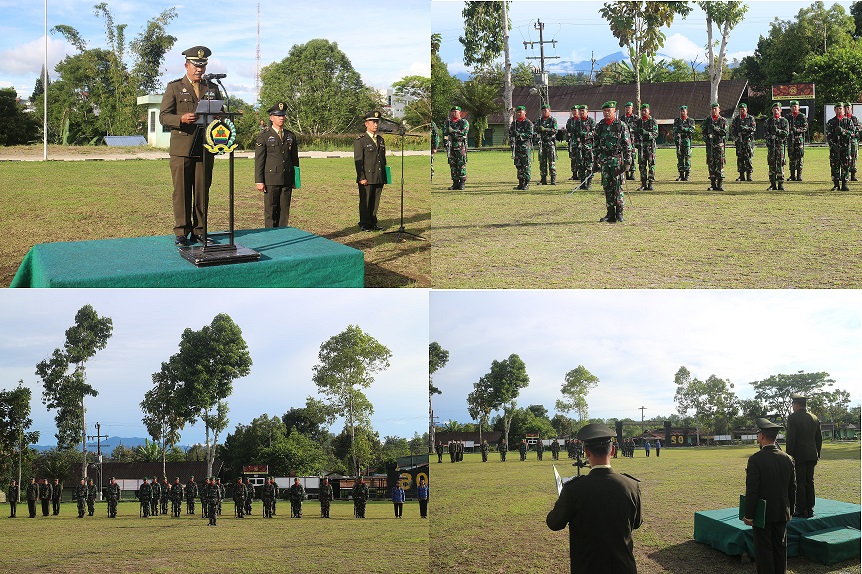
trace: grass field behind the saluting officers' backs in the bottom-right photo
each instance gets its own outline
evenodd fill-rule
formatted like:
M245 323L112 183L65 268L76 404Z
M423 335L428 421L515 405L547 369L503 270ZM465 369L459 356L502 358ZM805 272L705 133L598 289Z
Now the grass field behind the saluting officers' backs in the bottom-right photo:
M612 460L618 472L641 480L643 525L634 532L640 574L751 574L754 564L726 556L693 540L694 513L736 506L745 491L745 466L754 446L662 449ZM824 445L815 481L818 496L859 503L859 445ZM510 452L482 463L478 454L451 464L432 460L431 571L441 574L569 572L568 529L553 532L545 517L557 499L551 465L575 474L565 452L526 462ZM586 470L586 469L585 469ZM815 507L816 512L816 507ZM805 558L789 560L790 572L860 572L859 561L826 567Z

